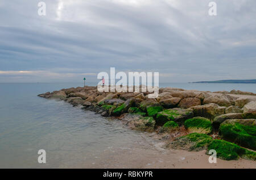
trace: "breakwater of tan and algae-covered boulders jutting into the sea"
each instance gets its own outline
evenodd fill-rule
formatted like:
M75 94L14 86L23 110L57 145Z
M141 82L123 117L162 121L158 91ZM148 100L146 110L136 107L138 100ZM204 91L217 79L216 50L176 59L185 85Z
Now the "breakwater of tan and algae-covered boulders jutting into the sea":
M224 165L223 168L227 165L232 165L234 168L238 168L237 166L240 165L241 167L255 168L256 153L254 145L227 139L224 136L225 132L222 132L222 134L219 132L219 128L222 128L225 124L234 125L233 121L243 126L249 125L253 129L256 127L256 111L254 108L256 96L253 93L234 90L212 93L210 91L164 87L159 89L158 98L150 99L148 94L150 93L99 93L97 87L85 86L62 89L52 93L47 92L38 96L63 100L73 106L82 106L84 110L94 111L104 117L122 120L127 127L137 131L154 132L157 136L155 138L167 142L166 144L169 143L170 147L165 146L164 148L170 151L179 152L180 150L174 149L181 149L181 151L185 150L188 154L200 154L204 158L209 158L207 155L209 146L214 146L214 143L224 144L228 148L237 146L236 148L240 149L237 152L235 150L235 152L227 153L226 149L217 149L217 161L221 161L221 164ZM249 107L249 110L247 110L247 107ZM192 126L191 124L188 125L189 120L193 122ZM175 124L174 127L170 125L170 122L174 122L172 123ZM195 122L198 122L198 124L210 122L210 125L208 124L209 127L204 125L200 127ZM196 140L192 140L191 136L195 136ZM254 143L255 135L250 134L250 138ZM193 137L193 139L195 138ZM201 145L202 139L209 141ZM200 146L197 144L200 144ZM232 157L229 153L232 154ZM122 157L119 158L122 159ZM164 159L168 159L168 157ZM201 161L200 158L194 158L193 160L194 162ZM236 161L236 163L233 163L233 161ZM252 166L249 162L252 162ZM176 163L176 168L186 167L186 165L184 167L180 166L179 162ZM209 164L208 161L205 163ZM168 164L165 166L171 168ZM147 168L146 166L143 167ZM160 164L155 165L155 168L159 167L162 166ZM201 165L200 167L204 168ZM208 167L214 168L214 165L210 164ZM218 165L217 168L220 168L220 166Z

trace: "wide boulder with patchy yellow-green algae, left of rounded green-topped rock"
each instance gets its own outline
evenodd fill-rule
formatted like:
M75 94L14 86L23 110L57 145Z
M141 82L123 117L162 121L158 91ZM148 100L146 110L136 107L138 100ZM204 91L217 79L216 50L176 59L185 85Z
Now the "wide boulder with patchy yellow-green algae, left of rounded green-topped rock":
M193 111L191 109L172 108L158 112L158 114L156 115L156 123L164 124L170 120L178 123L183 123L189 118L193 118Z

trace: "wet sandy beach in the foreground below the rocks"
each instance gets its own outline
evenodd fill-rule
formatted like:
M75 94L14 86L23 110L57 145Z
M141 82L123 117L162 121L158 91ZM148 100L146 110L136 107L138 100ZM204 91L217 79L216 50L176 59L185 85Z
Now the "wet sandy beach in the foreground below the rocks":
M217 158L216 164L210 164L206 150L189 152L161 148L164 143L154 144L152 148L109 148L100 156L89 158L79 168L129 168L129 169L174 169L174 168L256 168L256 161L239 160L225 161Z

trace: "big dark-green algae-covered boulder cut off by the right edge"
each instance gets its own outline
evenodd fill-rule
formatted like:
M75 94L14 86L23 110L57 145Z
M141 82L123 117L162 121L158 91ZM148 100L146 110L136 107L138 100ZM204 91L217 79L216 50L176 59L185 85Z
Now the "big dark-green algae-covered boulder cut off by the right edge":
M219 130L223 139L256 150L256 119L228 119Z

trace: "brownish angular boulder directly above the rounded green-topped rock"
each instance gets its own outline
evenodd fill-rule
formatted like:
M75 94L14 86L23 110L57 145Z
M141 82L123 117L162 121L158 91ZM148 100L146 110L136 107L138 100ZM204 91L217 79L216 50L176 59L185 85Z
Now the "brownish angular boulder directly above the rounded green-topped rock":
M205 104L201 106L191 107L195 116L201 116L208 119L214 119L215 117L225 114L226 107L218 106L218 104Z

